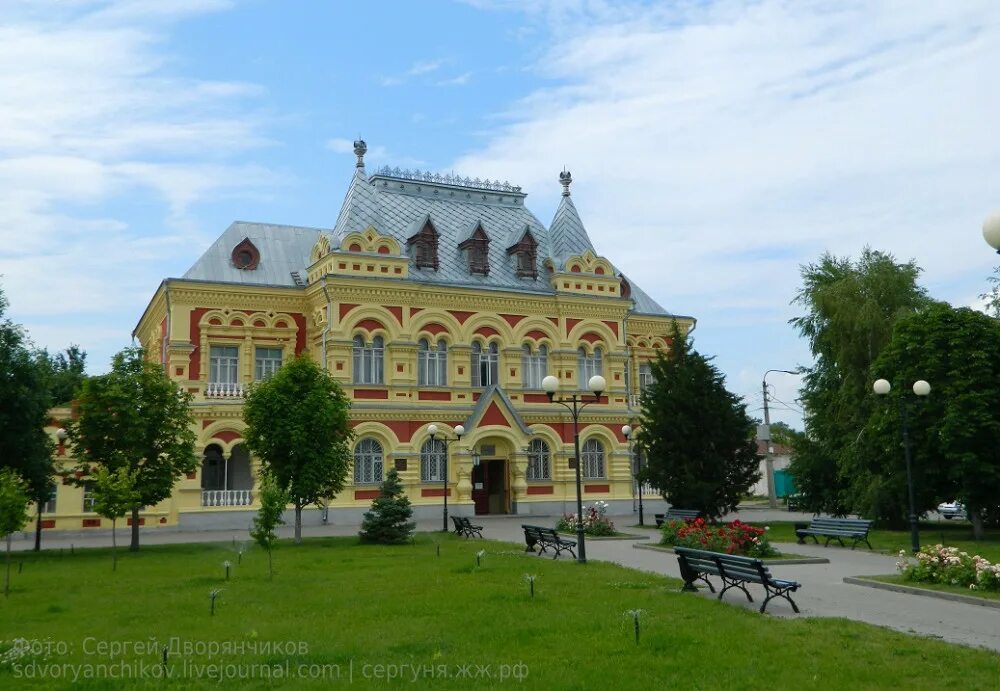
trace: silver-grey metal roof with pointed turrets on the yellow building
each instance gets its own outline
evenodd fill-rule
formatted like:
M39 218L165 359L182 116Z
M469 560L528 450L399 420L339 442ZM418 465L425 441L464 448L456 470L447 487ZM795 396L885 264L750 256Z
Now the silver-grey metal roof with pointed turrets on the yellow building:
M321 234L328 234L331 246L338 247L347 234L373 226L379 233L394 237L405 252L406 241L428 218L439 233L438 270L411 267L409 279L421 283L551 295L555 290L544 269L538 267L535 279L519 277L517 257L508 256L507 249L530 231L538 242L538 262L551 258L557 269L562 269L570 256L594 250L569 196L571 178L566 172L560 176L564 187L562 200L552 225L546 228L524 206L526 195L521 188L509 183L388 169L369 178L363 165L359 156L359 165L332 229L237 221L195 262L184 278L296 286L300 283L296 282L293 272L305 277L310 252ZM470 273L465 252L458 249L480 223L494 240L489 244L487 275ZM256 269L241 270L232 263L232 250L244 238L253 242L260 252ZM635 312L669 314L638 286L631 282L630 285Z

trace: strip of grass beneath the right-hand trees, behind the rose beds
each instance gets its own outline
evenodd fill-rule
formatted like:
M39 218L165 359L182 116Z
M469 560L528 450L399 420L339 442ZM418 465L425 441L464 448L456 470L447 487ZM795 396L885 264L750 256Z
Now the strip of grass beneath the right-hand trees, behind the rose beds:
M772 521L761 523L755 521L752 525L767 525L768 539L771 542L795 542L795 529L792 521ZM868 534L868 539L872 543L872 548L879 552L897 554L899 550L910 552L910 531L909 530L883 530L875 529ZM807 541L812 544L812 540ZM823 544L824 538L820 539ZM845 540L848 549L851 542ZM987 530L985 539L976 542L972 539L972 526L965 521L923 521L920 523L920 545L943 544L949 547L958 547L969 554L978 554L993 563L1000 562L1000 530ZM838 548L836 541L832 543L830 549ZM867 549L864 543L858 549Z

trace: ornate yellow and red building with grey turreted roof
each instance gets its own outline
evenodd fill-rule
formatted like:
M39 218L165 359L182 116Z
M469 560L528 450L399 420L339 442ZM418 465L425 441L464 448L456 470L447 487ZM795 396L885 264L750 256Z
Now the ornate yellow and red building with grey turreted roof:
M352 398L356 433L347 489L306 524L360 519L390 467L418 517L439 516L445 491L457 514L575 511L573 422L542 391L549 374L563 393L605 377L579 421L584 501L632 510L621 427L637 415L645 363L669 346L671 321L690 330L694 320L597 255L568 172L546 228L519 187L398 169L369 176L365 150L355 143L332 229L233 223L183 278L157 288L133 335L194 394L203 461L145 524L247 525L256 502L243 392L301 352ZM433 423L466 434L446 447L430 438ZM84 502L60 486L52 527L100 525Z

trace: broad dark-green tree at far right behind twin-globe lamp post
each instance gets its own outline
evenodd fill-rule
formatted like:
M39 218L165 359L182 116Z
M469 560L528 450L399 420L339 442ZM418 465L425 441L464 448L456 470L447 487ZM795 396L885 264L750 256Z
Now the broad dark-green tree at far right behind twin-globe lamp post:
M908 406L918 514L960 499L976 539L1000 519L1000 321L968 308L934 305L901 319L871 370L892 384L861 437L862 506L874 517L909 513L900 405ZM926 399L913 382L931 384Z

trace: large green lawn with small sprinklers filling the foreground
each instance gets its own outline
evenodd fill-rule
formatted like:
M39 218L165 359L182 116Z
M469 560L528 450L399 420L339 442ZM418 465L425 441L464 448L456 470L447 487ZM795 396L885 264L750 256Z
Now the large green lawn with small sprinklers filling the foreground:
M37 663L21 667L22 674L42 665L62 671L61 681L35 681L46 688L68 687L66 675L74 672L95 672L81 667L87 664L104 665L106 677L109 665L141 662L144 670L132 669L152 674L155 650L120 649L154 637L187 644L188 654L182 644L167 663L172 685L183 688L218 687L215 679L194 678L219 672L200 665L256 675L224 684L246 688L349 680L360 688L504 688L520 683L511 678L515 672L527 674L522 686L539 689L996 685L1000 655L994 653L846 620L762 616L680 593L676 580L607 563L525 556L522 549L454 536L421 535L403 547L316 539L281 544L273 581L262 552L251 550L236 566L230 545L145 547L125 555L117 573L106 550L17 555L24 569L18 574L15 566L11 595L0 602L0 639L48 646L48 656L20 661ZM477 567L479 550L486 555ZM234 564L229 582L224 560ZM534 598L525 574L537 576ZM210 616L213 588L223 592ZM638 645L625 614L637 609ZM787 608L777 601L771 609ZM269 665L272 675L325 672L326 678L269 681L254 664ZM405 681L388 680L390 673ZM119 684L102 678L78 685ZM15 685L30 684L8 664L0 688Z

